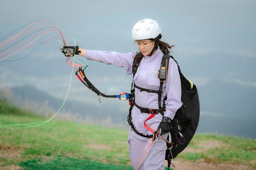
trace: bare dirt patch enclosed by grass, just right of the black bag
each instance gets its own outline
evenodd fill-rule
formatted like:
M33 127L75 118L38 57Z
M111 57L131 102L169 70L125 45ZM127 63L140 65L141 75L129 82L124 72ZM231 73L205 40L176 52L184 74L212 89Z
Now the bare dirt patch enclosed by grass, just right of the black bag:
M218 140L208 140L208 141L205 141L204 143L198 143L196 144L196 146L199 146L199 148L186 147L182 152L183 153L185 152L200 153L213 148L228 147L227 144L224 144Z

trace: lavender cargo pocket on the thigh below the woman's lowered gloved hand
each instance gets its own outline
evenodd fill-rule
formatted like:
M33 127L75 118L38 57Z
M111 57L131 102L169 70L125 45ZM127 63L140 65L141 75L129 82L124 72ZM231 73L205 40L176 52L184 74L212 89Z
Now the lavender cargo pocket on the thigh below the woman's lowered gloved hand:
M166 146L162 141L157 141L153 150L150 163L153 165L164 166Z

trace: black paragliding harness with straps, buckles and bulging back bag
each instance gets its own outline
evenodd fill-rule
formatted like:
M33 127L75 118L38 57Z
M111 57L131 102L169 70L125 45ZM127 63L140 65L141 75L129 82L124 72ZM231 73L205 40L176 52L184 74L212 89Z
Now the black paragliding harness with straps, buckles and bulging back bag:
M138 55L138 54L137 54ZM129 98L129 104L131 105L129 109L129 115L127 116L127 121L129 125L131 126L131 130L133 130L136 134L152 138L156 134L156 131L148 127L148 125L145 123L147 120L154 117L154 115L160 113L162 116L164 116L165 111L165 100L167 97L165 96L163 101L163 106L161 105L161 98L163 95L163 84L164 81L166 81L167 78L167 71L168 71L168 64L170 57L177 63L177 61L171 56L171 55L164 55L162 58L160 70L159 70L159 81L160 81L160 87L159 90L151 90L151 89L145 89L142 87L139 87L135 84L134 79L132 81L132 89L131 89L131 97ZM142 59L142 58L141 58ZM141 61L141 60L140 60ZM132 64L132 74L133 78L134 75L137 72L137 69L140 65L140 61L138 64L135 64L135 60L133 60ZM178 63L177 63L178 65ZM196 89L196 85L194 85L192 82L190 82L188 79L186 79L183 74L181 73L180 67L178 65L178 70L180 74L180 80L181 80L181 102L182 106L177 110L174 119L170 123L170 132L167 137L167 140L171 141L170 143L167 142L167 148L171 148L172 153L170 149L167 149L165 152L165 159L168 161L168 169L170 165L172 164L171 160L175 158L180 152L182 152L194 136L196 132L196 128L199 122L199 98L198 93ZM134 88L133 88L134 84ZM140 107L135 103L135 88L139 89L140 92L146 91L151 93L157 93L158 94L158 109L150 109L150 108L144 108ZM144 126L148 130L150 130L153 135L144 135L136 130L136 127L132 123L132 108L137 107L140 109L141 113L148 113L150 116L148 119L145 120ZM178 133L178 136L177 136ZM186 139L186 140L185 140ZM172 156L170 156L170 154ZM172 166L174 166L172 164Z

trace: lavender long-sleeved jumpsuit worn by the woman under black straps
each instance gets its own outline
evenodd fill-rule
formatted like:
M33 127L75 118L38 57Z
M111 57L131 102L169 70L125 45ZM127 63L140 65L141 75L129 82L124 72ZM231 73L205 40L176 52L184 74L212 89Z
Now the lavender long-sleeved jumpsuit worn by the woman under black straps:
M137 53L138 52L136 51L122 54L118 52L86 50L86 58L88 60L95 60L106 64L114 64L117 67L124 67L127 74L132 74L132 63L134 56ZM160 81L158 78L158 70L160 68L163 55L163 52L158 47L154 55L150 57L144 56L142 58L137 73L134 76L134 82L136 85L146 89L159 90ZM135 96L135 103L140 107L158 109L158 94L148 93L145 91L140 92L139 89L135 88ZM178 66L172 58L169 60L167 81L164 82L163 85L162 103L165 96L167 96L167 100L165 101L166 112L164 113L164 116L173 119L176 111L182 106L182 103L180 101L181 84ZM148 116L149 114L141 114L137 107L133 107L132 122L136 129L144 135L152 135L152 133L144 127L144 121L148 118ZM157 127L161 121L162 115L158 114L152 119L148 120L146 123L150 128L157 130ZM141 137L132 131L131 128L129 129L129 158L132 159L132 166L134 169L136 169L145 153L142 151L142 149L150 139ZM168 134L164 134L163 137L167 138L167 135ZM154 150L150 154L146 163L143 165L142 169L164 169L165 150L165 144L161 140L158 140Z

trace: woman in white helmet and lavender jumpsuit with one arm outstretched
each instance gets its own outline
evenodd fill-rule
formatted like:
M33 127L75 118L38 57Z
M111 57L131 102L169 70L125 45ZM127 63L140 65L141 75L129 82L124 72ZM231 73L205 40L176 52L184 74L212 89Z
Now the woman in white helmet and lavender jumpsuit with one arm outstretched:
M64 46L61 51L66 55L85 56L88 60L96 60L106 64L114 64L117 67L124 67L127 74L132 74L132 64L139 64L138 70L134 75L134 84L141 88L159 90L160 80L158 78L159 68L164 54L169 54L172 47L160 41L162 37L161 29L158 23L152 19L143 19L137 22L132 28L132 39L140 52L122 54L117 52L85 50L82 48ZM140 61L141 60L141 61ZM140 91L135 88L135 103L140 107L159 109L158 94L147 91ZM165 98L166 97L166 98ZM147 121L150 128L158 130L165 139L169 132L169 123L173 119L176 111L182 106L181 103L181 83L178 66L170 58L168 63L167 80L163 84L162 104L165 100L164 116L156 114ZM136 130L143 135L152 135L144 126L144 121L148 118L148 113L141 113L137 107L132 108L132 122ZM138 167L145 151L142 151L145 145L151 139L143 137L129 130L128 144L130 147L129 157L132 159L134 169ZM141 153L142 151L142 153ZM163 141L157 140L154 150L151 152L148 160L144 163L142 169L156 170L164 169L166 145Z

